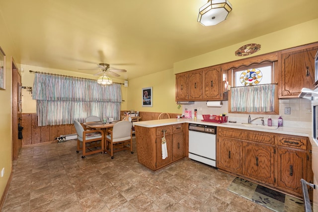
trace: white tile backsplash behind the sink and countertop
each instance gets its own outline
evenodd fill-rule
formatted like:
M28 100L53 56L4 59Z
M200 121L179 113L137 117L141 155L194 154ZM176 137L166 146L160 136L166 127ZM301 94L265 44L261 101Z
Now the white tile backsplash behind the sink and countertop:
M290 114L285 114L285 107L290 108ZM182 111L187 108L192 111L194 117L194 109L197 109L198 119L202 119L202 114L220 115L226 113L229 116L229 121L237 121L239 123L247 123L248 113L237 114L228 113L228 101L223 101L222 107L207 107L206 101L194 102L192 105L182 105ZM312 111L311 101L301 98L279 99L279 113L283 118L283 127L298 127L298 128L311 128ZM266 114L251 114L251 119L257 117L264 117L265 124L267 124ZM277 119L279 115L270 115L273 120L273 126L277 126ZM260 122L255 120L255 123ZM260 124L260 123L259 123Z

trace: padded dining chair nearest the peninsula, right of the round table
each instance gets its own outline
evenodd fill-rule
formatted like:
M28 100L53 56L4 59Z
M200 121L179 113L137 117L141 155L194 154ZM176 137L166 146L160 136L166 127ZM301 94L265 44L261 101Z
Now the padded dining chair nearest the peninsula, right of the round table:
M130 150L133 154L133 131L132 122L117 122L112 130L106 130L106 149L111 159L114 158L114 152L121 150Z

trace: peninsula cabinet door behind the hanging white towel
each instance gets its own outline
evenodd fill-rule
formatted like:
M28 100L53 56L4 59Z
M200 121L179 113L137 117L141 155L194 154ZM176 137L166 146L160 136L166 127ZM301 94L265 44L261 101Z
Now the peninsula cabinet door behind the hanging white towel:
M156 138L156 145L157 145L157 155L156 155L156 169L167 165L172 161L172 139L171 135L166 135L165 136L165 141L167 145L167 153L168 157L165 159L162 159L162 150L161 150L161 138L162 136L158 136Z

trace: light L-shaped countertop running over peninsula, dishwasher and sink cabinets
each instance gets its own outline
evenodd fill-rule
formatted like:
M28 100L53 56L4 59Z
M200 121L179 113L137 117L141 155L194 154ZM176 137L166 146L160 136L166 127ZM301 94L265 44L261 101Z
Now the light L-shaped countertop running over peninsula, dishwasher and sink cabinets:
M305 136L312 137L311 129L307 128L292 128L292 127L268 127L268 126L260 126L254 124L232 124L232 123L214 123L214 122L204 122L201 119L160 119L160 120L151 120L151 121L142 121L142 122L134 122L134 126L152 128L152 127L160 127L166 125L174 125L174 124L182 124L182 123L193 123L193 124L203 124L217 127L226 127L226 128L235 128L242 130L252 130L252 131L260 131L267 133L279 133L293 136Z

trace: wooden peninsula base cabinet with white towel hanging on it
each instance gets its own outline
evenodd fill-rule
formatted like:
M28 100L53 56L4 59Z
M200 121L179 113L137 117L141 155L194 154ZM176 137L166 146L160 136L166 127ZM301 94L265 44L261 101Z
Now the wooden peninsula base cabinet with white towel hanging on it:
M185 157L184 124L153 128L135 126L138 162L158 170ZM161 139L165 138L167 157L162 159Z

